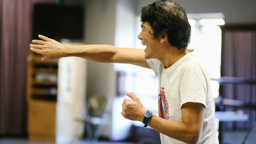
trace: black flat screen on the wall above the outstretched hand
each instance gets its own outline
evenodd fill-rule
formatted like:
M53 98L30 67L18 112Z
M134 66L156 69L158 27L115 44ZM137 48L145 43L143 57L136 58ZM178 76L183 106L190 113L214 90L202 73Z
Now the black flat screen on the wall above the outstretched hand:
M84 33L84 8L56 4L35 4L33 39L38 34L54 40L61 38L81 40Z

